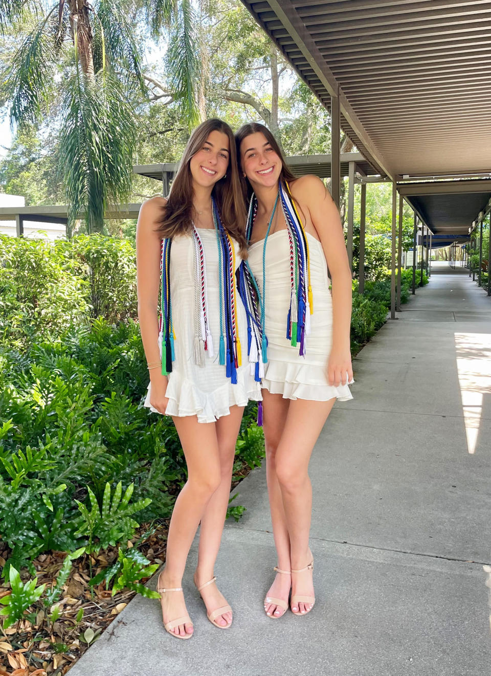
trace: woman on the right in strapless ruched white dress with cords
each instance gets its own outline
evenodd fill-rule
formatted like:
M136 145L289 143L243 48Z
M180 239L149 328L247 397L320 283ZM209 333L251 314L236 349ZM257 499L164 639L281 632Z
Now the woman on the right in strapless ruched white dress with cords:
M322 181L296 178L262 124L245 124L235 140L250 197L248 264L267 360L262 408L278 574L264 610L279 618L290 589L294 614L314 605L308 462L336 398L352 398L351 272L340 216Z

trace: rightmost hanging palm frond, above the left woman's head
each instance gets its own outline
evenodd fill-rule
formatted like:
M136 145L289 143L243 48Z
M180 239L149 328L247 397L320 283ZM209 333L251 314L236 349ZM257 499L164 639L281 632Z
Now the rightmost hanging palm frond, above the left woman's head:
M181 0L170 30L167 64L170 89L181 114L192 128L200 122L197 90L202 76L200 68L200 36L197 17L190 0Z

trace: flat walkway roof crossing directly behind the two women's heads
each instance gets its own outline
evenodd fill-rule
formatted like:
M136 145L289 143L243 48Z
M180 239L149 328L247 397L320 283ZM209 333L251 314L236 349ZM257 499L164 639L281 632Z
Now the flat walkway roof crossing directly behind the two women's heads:
M330 178L331 176L331 155L290 155L285 158L294 174L303 176L304 174L316 174L319 178ZM355 163L355 171L361 176L375 176L377 170L371 166L361 153L342 153L341 154L341 175L348 176L350 162ZM162 180L164 174L172 176L177 170L177 163L172 164L138 164L133 167L135 174L148 176Z

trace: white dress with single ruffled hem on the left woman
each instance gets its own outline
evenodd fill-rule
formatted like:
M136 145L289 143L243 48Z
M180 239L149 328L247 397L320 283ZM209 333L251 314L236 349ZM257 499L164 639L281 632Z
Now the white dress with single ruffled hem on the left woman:
M216 233L207 228L198 228L202 241L208 294L208 313L212 334L214 356L205 352L205 366L193 362L194 340L194 254L193 239L179 235L170 247L170 299L172 301L172 322L174 324L175 360L168 375L166 415L197 416L199 423L214 423L230 413L231 406L245 406L248 400L261 400L260 383L250 375L247 354L248 331L245 308L237 295L237 324L241 341L242 366L237 368L237 384L225 375L225 366L218 360L220 342L220 308L218 287L218 248ZM239 245L235 245L236 268L241 263ZM151 383L148 385L144 406L158 413L150 404Z

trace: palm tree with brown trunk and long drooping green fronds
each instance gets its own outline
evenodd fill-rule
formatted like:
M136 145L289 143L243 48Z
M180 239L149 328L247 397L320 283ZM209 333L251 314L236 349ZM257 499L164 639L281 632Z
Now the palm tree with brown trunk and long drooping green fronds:
M11 126L43 120L60 101L60 178L68 234L80 212L87 231L101 231L109 203L127 201L137 119L147 100L135 22L168 40L168 87L189 126L200 117L200 48L191 0L57 0L40 14L37 0L0 0L0 30L26 17L34 23L7 72ZM69 64L60 68L60 64Z

